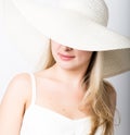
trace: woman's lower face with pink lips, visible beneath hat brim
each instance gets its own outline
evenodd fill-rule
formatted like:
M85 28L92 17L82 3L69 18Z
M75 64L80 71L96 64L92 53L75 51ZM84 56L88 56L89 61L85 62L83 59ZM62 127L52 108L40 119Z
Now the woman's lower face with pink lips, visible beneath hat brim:
M73 49L51 41L51 50L56 64L66 70L87 69L92 51Z

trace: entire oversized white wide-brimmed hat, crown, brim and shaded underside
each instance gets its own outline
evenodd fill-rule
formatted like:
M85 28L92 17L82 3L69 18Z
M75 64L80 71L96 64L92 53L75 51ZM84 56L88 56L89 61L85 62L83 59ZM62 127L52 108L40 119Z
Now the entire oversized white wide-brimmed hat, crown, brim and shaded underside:
M108 10L103 0L61 0L54 5L5 1L8 33L29 61L39 59L47 37L78 50L102 51L104 77L130 70L130 39L106 27Z

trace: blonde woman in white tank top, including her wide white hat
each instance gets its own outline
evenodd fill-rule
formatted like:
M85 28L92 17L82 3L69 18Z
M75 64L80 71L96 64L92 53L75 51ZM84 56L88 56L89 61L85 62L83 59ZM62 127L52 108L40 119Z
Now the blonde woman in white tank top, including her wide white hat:
M50 38L50 51L41 71L9 84L0 134L112 135L116 91L104 78L130 70L130 41L105 27L104 1L66 0L56 9L13 2Z

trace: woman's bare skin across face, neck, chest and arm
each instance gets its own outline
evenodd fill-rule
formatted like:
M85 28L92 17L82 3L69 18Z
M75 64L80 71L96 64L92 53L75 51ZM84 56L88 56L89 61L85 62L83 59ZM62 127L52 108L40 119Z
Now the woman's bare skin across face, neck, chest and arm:
M87 88L81 81L92 52L79 51L55 41L51 42L51 48L56 63L35 73L35 103L70 120L89 116L90 112L82 112L79 106ZM30 103L30 76L27 73L18 74L10 82L0 105L0 135L20 134L24 112Z

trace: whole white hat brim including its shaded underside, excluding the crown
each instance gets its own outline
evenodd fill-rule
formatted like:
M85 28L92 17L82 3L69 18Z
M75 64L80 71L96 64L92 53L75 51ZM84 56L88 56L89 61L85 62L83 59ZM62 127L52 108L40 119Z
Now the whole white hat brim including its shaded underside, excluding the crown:
M74 12L69 14L69 20L67 20L67 16L66 19L63 17L61 13L49 17L49 13L54 14L54 11L47 12L49 8L46 8L44 11L41 7L31 7L31 4L28 9L28 7L26 5L25 8L24 4L21 4L20 8L11 3L11 1L9 3L10 5L4 9L4 19L10 36L14 41L16 40L15 45L17 48L27 56L29 62L34 62L34 65L37 64L43 53L44 46L42 46L42 42L44 42L44 35L62 45L79 50L103 51L104 77L110 77L130 70L130 49L127 49L130 48L130 41L126 37L108 30L105 26L96 24L90 19L82 16L82 20L79 20L78 14L74 14ZM57 10L55 12L57 12ZM65 12L65 15L67 14L68 13ZM46 15L47 19L42 15ZM58 15L61 15L61 17ZM72 20L72 15L75 15L75 20ZM76 20L78 22L76 22ZM73 26L73 23L77 25L77 29L75 29L76 26ZM79 25L80 23L82 23L82 25Z

